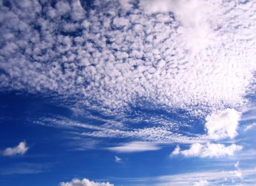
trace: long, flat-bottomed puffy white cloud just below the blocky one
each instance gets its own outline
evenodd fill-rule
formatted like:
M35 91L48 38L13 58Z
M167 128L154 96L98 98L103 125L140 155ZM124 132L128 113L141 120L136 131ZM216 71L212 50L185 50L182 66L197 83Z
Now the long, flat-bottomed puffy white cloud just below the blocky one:
M181 154L184 155L184 157L218 158L226 155L234 155L238 150L242 150L242 146L234 143L229 146L220 143L207 143L206 145L194 143L188 150L180 150L180 147L177 146L172 152L172 155Z

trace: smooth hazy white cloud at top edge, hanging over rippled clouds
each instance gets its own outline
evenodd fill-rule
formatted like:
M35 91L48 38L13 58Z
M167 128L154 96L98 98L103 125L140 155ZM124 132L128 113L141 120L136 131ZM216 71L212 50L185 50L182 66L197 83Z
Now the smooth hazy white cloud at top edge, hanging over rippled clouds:
M203 0L141 0L139 5L148 14L173 12L180 22L177 32L183 35L193 52L200 52L214 42L217 14L221 13L218 1Z

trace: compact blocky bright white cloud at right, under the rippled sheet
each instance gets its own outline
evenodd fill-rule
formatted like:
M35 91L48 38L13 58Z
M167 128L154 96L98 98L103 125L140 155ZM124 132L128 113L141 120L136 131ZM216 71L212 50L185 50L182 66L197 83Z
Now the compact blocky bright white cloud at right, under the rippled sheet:
M234 138L237 135L237 126L240 118L240 112L228 108L207 116L205 128L209 137L214 140L226 137Z

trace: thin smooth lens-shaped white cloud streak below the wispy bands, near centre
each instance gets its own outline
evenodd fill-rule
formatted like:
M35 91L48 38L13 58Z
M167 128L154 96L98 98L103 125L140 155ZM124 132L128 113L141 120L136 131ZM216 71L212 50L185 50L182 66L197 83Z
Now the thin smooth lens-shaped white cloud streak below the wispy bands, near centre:
M121 146L109 147L108 150L117 151L118 153L134 153L142 151L159 150L160 147L155 143L148 142L129 142Z

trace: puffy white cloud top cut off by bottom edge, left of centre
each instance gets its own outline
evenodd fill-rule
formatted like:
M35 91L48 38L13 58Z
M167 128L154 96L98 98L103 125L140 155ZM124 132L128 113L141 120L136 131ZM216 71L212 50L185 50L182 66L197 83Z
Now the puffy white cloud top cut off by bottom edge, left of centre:
M90 181L86 178L79 180L79 179L73 179L70 182L61 182L60 186L114 186L114 184L110 184L109 182L94 182Z

